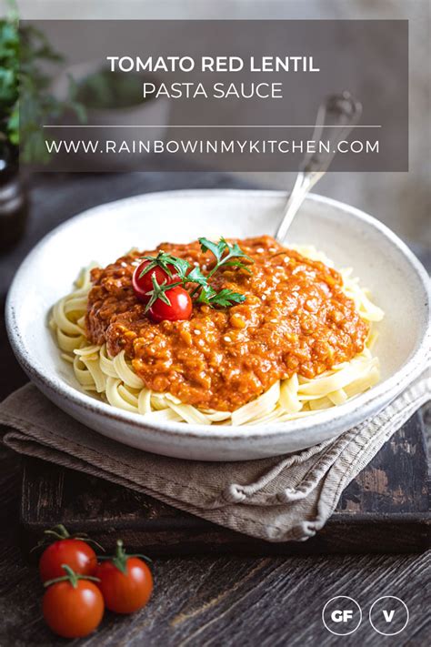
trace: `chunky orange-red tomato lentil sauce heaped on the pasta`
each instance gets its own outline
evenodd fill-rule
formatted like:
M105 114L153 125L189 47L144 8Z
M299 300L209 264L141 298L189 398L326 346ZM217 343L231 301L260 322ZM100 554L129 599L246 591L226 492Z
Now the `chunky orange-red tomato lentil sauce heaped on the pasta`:
M294 373L314 378L364 349L368 325L342 291L333 268L263 236L236 240L254 259L217 271L209 282L246 296L232 308L194 305L190 319L152 322L132 288L142 256L185 258L204 273L214 267L197 241L163 243L92 270L86 329L115 356L125 350L147 389L170 392L202 409L235 410Z

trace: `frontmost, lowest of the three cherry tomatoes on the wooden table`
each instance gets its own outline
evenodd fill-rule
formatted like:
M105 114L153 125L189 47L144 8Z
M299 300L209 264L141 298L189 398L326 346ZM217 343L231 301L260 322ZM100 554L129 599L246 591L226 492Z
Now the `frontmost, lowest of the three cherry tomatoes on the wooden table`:
M68 580L51 584L42 603L46 624L64 638L82 638L94 632L104 610L102 593L84 579L75 580L75 584Z

